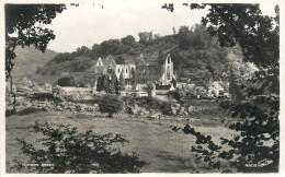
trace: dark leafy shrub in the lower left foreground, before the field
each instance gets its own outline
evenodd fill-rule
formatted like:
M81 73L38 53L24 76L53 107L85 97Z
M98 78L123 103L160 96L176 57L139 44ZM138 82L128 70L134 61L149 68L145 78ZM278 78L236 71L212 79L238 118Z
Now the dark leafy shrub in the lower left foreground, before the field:
M37 140L44 149L36 149L24 139L16 139L16 141L22 145L21 153L29 156L29 163L38 164L38 166L29 166L29 169L33 168L37 173L139 173L146 164L139 161L135 153L129 155L113 148L115 144L128 143L121 134L99 135L90 129L78 132L77 128L70 125L53 128L47 122L45 125L36 122L32 129L44 135ZM22 162L15 160L15 163L13 168L16 170L24 167Z

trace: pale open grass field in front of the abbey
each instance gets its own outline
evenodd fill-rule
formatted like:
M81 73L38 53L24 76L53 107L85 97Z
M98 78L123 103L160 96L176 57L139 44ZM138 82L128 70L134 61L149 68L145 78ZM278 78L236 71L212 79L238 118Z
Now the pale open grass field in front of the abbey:
M39 134L30 132L26 128L38 122L47 121L52 126L58 123L70 123L84 131L89 127L99 134L112 132L119 133L129 140L121 150L123 152L135 152L140 160L148 164L141 168L142 173L193 173L193 169L210 172L206 165L196 162L190 150L194 145L195 138L183 134L181 131L173 132L170 126L183 127L190 123L196 130L213 135L218 142L219 137L229 137L232 131L220 125L217 119L189 119L189 120L151 120L148 118L98 118L92 114L75 114L70 111L48 111L30 114L25 116L10 116L7 118L7 173L19 173L11 170L13 160L22 162L26 157L20 152L20 144L15 138L24 138L27 142L35 142ZM21 172L23 173L23 172Z

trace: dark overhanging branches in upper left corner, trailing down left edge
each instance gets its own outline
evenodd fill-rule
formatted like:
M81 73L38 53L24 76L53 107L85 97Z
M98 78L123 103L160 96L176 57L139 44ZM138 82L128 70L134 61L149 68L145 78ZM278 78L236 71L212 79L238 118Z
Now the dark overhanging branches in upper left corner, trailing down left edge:
M50 24L58 13L66 9L65 4L5 4L5 79L10 80L12 91L13 59L16 46L34 45L36 49L45 51L49 40L55 39L52 30L43 25ZM12 35L15 34L15 35Z

